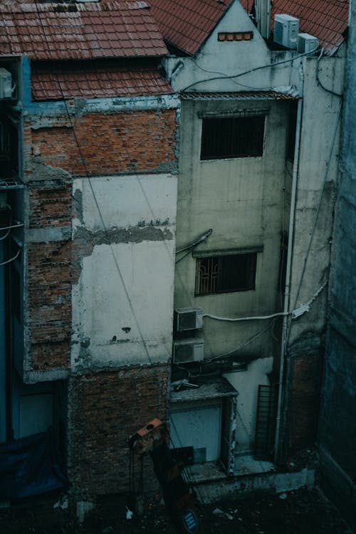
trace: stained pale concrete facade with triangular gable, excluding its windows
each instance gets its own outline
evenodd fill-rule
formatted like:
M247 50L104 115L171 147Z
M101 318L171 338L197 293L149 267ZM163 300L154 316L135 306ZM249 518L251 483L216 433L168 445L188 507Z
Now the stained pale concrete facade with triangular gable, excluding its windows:
M224 31L251 31L253 38L221 42L219 33ZM182 260L177 256L174 305L202 308L203 317L221 318L205 317L204 327L194 335L204 340L206 359L232 355L246 363L243 382L249 384L255 408L258 385L280 384L277 418L283 424L277 456L308 446L316 436L320 379L314 377L320 377L325 343L340 138L337 94L342 92L344 56L342 48L329 58L270 50L246 11L234 2L197 56L165 60L173 88L182 91L178 250L212 230L191 255ZM318 78L335 94L325 91ZM264 90L264 96L256 90ZM282 94L273 97L266 93L271 90ZM288 100L288 95L296 100ZM300 122L290 160L288 136L290 129L295 131L290 110L298 102ZM201 159L204 117L259 112L266 114L263 155ZM286 260L288 252L286 243L281 250L281 234L288 235L290 254L286 300L280 281L281 258ZM197 258L224 251L256 251L255 288L197 295ZM298 310L295 318L293 310ZM284 322L274 316L278 313L288 314ZM266 318L229 321L253 316ZM266 368L265 358L273 361L271 367ZM241 370L226 377L239 389ZM290 424L290 414L300 417L293 416ZM238 416L249 424L241 424L240 434L237 430L236 451L251 452L256 411L251 417L251 399L244 395L239 396Z

